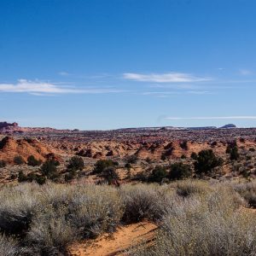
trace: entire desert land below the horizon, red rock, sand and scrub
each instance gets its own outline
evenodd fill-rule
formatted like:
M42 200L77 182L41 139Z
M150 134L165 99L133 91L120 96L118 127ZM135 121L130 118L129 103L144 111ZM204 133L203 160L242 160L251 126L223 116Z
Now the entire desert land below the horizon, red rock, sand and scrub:
M0 126L4 255L254 255L255 128ZM217 227L243 238L220 244Z

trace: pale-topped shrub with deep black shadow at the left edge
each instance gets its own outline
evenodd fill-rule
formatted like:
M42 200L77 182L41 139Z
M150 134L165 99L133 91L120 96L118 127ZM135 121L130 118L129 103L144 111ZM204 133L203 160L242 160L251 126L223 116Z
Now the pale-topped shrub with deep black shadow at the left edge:
M37 204L35 184L6 187L0 191L0 230L6 234L23 234L32 220Z

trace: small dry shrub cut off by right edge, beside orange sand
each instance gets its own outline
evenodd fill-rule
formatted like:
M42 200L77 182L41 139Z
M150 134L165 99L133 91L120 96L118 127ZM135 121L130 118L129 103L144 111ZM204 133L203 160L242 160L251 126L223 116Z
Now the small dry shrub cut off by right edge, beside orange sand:
M248 202L250 207L256 208L256 181L233 185L234 189Z

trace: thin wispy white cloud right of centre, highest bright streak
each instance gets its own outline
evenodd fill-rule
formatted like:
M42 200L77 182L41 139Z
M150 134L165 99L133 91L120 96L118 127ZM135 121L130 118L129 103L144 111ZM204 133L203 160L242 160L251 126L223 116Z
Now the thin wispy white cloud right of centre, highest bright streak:
M152 83L189 83L208 81L209 78L201 78L189 73L124 73L124 79L134 80L138 82Z

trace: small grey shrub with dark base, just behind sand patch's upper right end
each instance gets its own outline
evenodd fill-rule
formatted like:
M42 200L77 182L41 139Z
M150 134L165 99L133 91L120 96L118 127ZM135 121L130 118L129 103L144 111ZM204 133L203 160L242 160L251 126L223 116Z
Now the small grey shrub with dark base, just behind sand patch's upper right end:
M139 222L144 218L155 220L162 215L159 195L153 186L125 185L120 190L125 204L123 220L126 223Z

